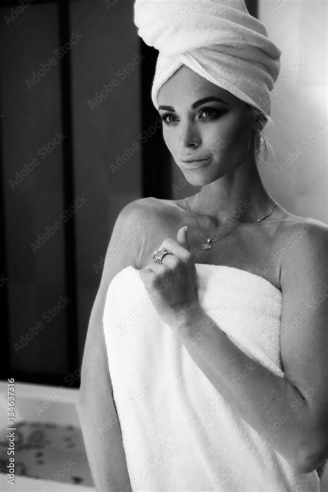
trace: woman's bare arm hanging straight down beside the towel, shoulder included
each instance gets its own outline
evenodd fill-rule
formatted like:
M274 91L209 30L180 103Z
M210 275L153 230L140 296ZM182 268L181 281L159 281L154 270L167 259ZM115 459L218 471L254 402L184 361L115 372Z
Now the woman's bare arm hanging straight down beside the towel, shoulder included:
M141 224L140 231L135 233L138 223ZM118 215L84 346L82 366L85 370L81 371L77 410L93 482L99 492L131 491L120 423L113 402L102 315L113 276L128 265L137 265L144 224L140 220L140 200L127 204Z

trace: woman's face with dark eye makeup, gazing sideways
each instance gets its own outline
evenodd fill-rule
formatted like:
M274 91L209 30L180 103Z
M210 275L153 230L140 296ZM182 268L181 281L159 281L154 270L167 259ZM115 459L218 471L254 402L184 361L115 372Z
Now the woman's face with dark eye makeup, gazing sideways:
M211 100L200 102L203 98ZM250 106L189 67L183 65L165 82L158 104L165 143L190 184L211 183L254 159Z

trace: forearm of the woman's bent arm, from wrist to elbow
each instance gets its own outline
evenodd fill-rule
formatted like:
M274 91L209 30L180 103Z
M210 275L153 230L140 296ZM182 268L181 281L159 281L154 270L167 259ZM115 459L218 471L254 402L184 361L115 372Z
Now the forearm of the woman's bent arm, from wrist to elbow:
M172 328L210 383L273 448L298 466L298 453L310 429L307 399L286 378L250 359L201 308L182 320Z

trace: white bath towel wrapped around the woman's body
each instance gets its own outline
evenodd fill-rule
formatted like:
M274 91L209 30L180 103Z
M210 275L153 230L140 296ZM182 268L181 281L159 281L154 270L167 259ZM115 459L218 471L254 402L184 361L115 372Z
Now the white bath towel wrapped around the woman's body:
M234 267L196 270L197 299L218 329L283 377L280 290ZM319 491L316 471L294 471L228 405L156 313L136 268L112 279L103 321L133 491Z

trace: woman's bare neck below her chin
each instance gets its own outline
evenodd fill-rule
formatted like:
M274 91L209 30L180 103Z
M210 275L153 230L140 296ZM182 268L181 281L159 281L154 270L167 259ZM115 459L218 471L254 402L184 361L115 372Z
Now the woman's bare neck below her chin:
M255 162L242 166L203 185L188 200L197 215L210 216L219 226L234 218L237 222L255 222L271 212L275 200L264 188Z

